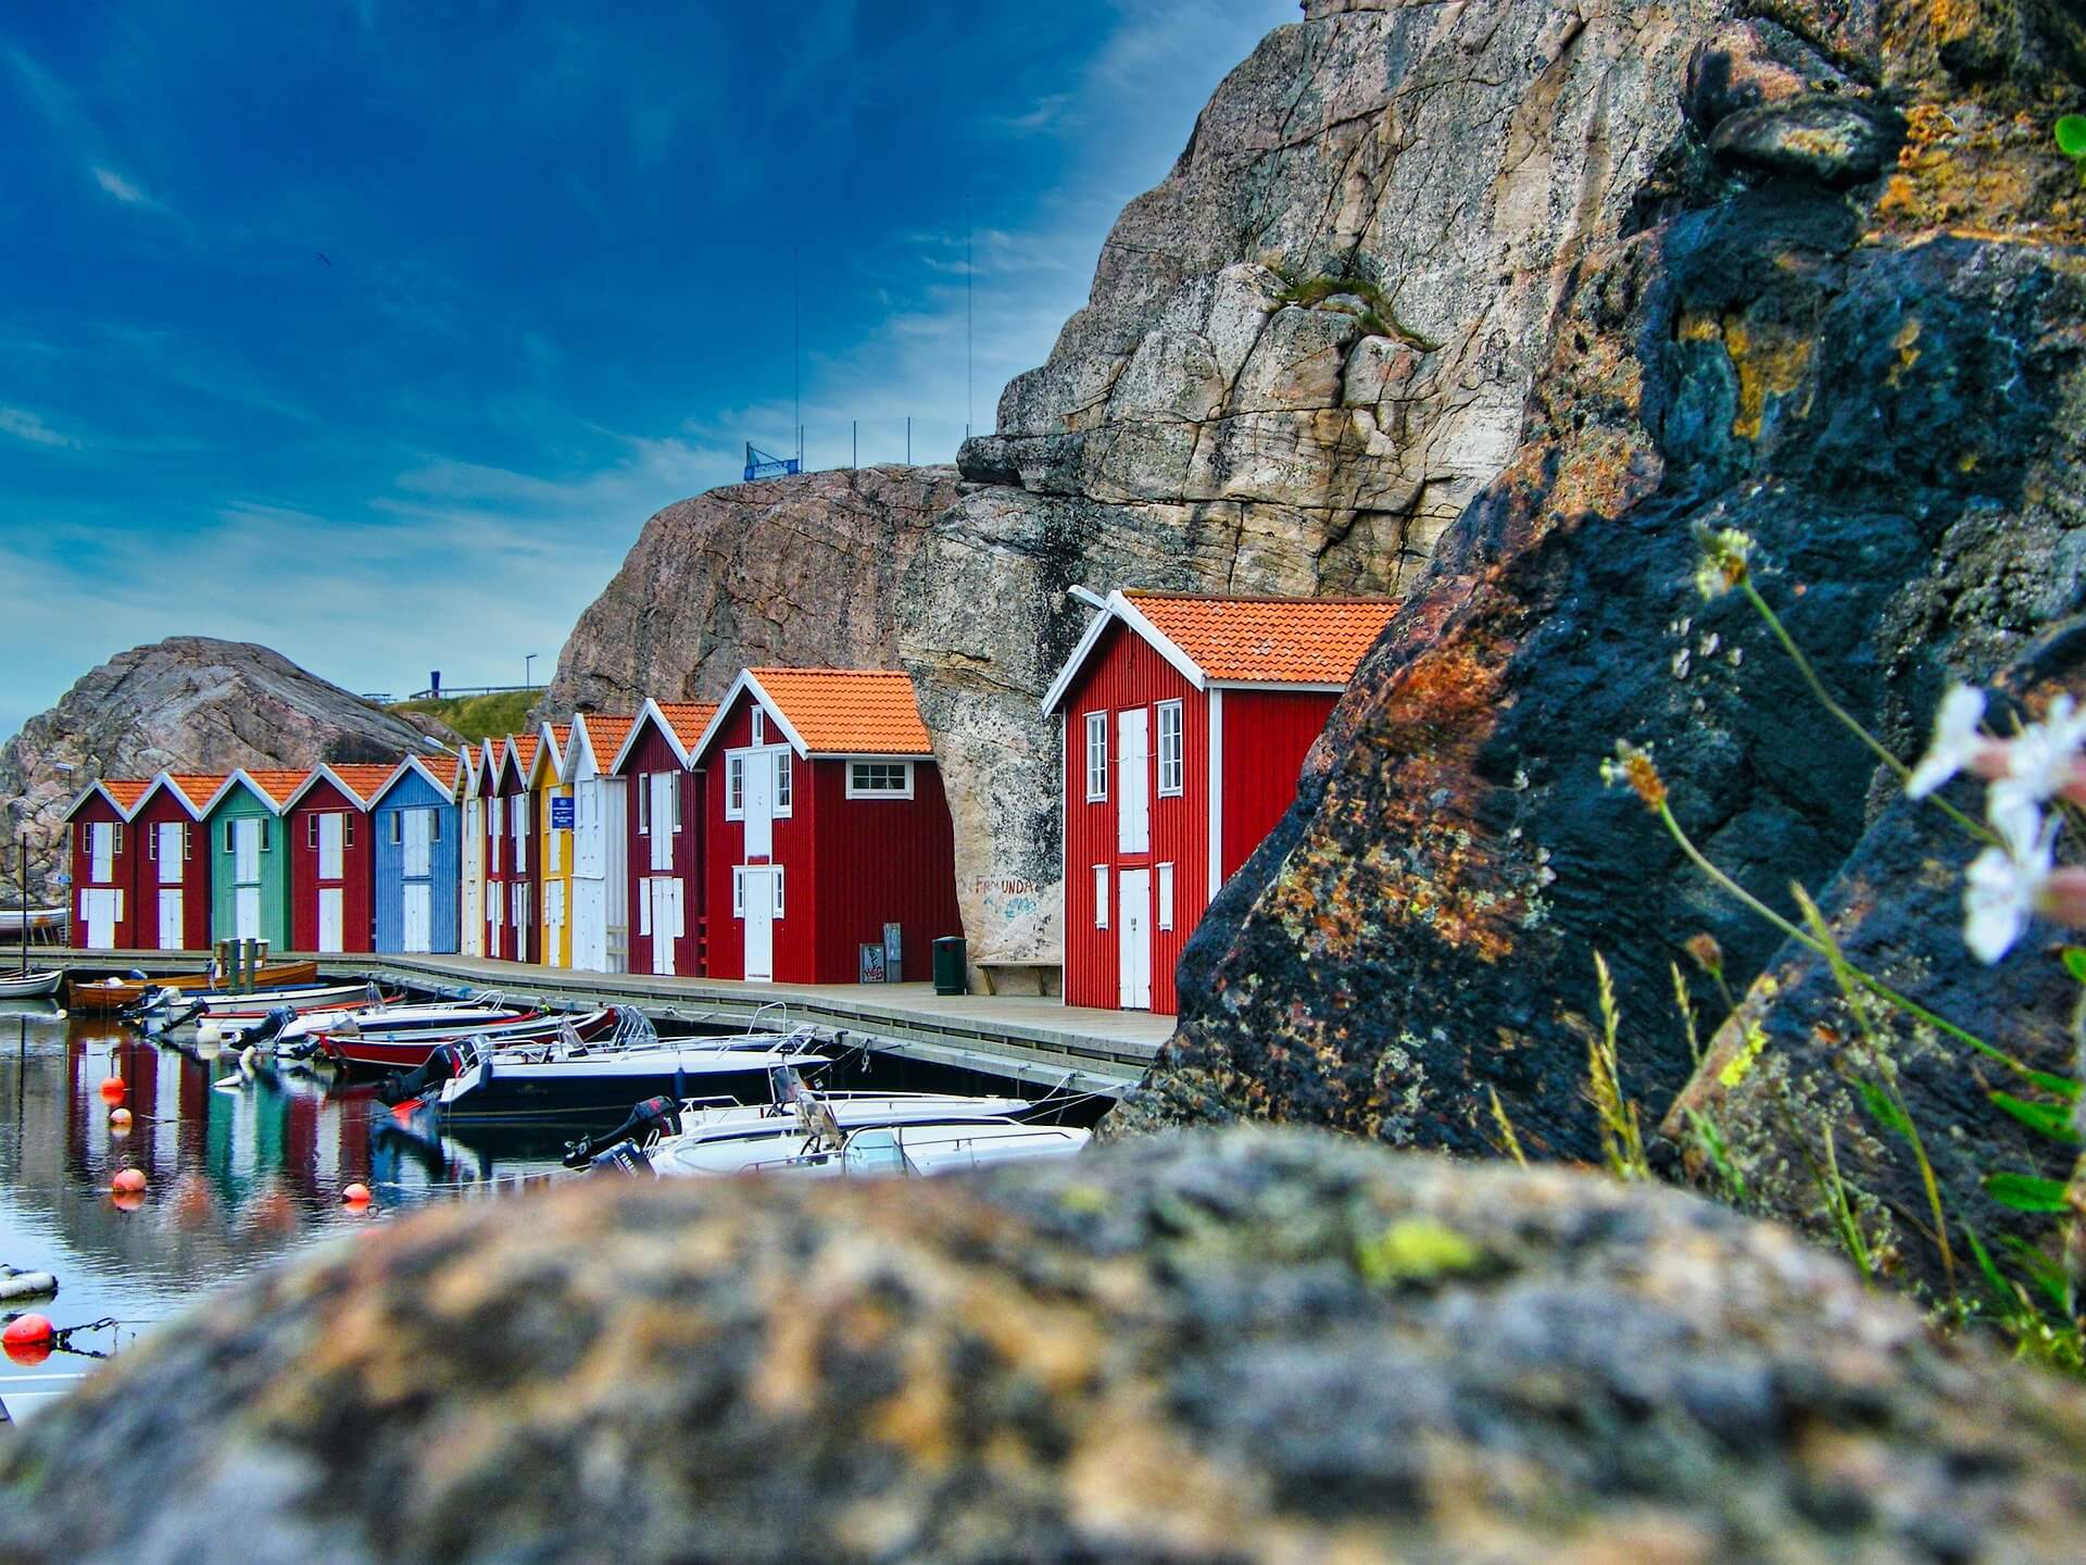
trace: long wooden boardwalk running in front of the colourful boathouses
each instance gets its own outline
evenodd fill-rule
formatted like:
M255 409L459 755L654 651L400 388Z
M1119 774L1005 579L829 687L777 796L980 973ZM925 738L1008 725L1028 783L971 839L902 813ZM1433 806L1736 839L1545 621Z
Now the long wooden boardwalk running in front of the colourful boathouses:
M52 952L83 968L196 972L204 952ZM271 960L305 960L282 952ZM928 983L738 983L661 979L649 972L574 972L476 956L319 956L325 972L419 989L496 989L509 1000L590 1010L636 1006L653 1020L743 1027L811 1022L847 1033L874 1054L932 1060L1008 1081L1122 1095L1172 1035L1172 1016L1087 1010L1035 995L937 995Z

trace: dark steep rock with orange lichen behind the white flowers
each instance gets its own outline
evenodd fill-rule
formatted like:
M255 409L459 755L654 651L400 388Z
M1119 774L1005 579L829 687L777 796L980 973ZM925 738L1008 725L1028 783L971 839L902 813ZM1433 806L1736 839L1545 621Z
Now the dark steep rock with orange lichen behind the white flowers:
M1656 747L1692 839L1792 916L1792 881L1888 885L1863 870L1871 830L1892 830L1888 774L1740 595L1702 601L1694 530L1758 540L1761 591L1900 755L1950 678L1988 680L2086 601L2086 200L2048 140L2082 96L2067 73L2086 23L2015 4L1740 10L1779 21L1704 40L1698 117L1671 127L1635 232L1575 257L1517 453L1202 924L1181 1031L1122 1125L1262 1114L1483 1150L1496 1089L1531 1152L1598 1156L1594 952L1617 977L1625 1087L1656 1121L1694 1068L1675 962L1704 1035L1723 1016L1683 943L1715 935L1740 991L1781 943L1604 789L1619 739ZM1867 184L1846 188L1838 134L1809 165L1719 146L1736 115L1859 94L1865 125L1905 134ZM1905 839L1877 870L1913 853ZM1925 870L1938 891L1919 904L1936 972L1969 964L1955 866ZM1800 1000L1819 995L1811 974ZM2048 1060L2061 1014L2038 1008L2040 977L1950 995L1971 1002L1957 1020ZM1779 1035L1815 1020L1781 1004ZM1961 1102L1980 1112L1927 1133L2015 1143L1980 1093Z

